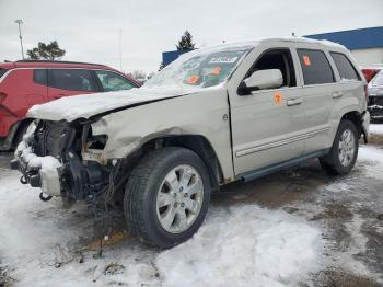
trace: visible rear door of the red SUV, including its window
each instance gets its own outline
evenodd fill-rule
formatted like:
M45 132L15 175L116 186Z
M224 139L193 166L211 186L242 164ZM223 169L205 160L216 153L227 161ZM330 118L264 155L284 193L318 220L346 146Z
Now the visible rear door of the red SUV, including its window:
M92 73L86 69L48 69L48 100L97 92Z

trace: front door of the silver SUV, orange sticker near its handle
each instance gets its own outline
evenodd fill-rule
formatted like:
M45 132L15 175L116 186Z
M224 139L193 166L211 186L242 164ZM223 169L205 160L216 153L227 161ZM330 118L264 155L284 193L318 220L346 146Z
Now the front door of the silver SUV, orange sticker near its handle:
M303 152L303 112L290 44L259 46L249 70L229 85L234 173L236 175L288 161ZM239 85L255 70L280 69L283 87L239 94ZM241 69L239 69L241 70ZM241 76L240 76L241 77Z

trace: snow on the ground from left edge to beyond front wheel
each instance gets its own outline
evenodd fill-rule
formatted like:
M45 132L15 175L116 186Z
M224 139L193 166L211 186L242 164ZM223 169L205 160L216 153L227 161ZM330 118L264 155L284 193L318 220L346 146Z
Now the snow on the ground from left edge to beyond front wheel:
M127 237L94 259L89 210L42 203L19 176L0 168L0 257L15 286L297 286L321 265L316 228L256 205L212 206L198 233L172 250ZM111 264L123 267L105 272Z

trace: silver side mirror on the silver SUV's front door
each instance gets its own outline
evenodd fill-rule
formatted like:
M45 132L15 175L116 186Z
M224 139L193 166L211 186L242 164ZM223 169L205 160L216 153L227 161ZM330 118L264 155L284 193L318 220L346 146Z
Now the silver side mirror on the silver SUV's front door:
M245 79L244 83L251 91L279 88L283 84L283 76L279 69L258 70Z

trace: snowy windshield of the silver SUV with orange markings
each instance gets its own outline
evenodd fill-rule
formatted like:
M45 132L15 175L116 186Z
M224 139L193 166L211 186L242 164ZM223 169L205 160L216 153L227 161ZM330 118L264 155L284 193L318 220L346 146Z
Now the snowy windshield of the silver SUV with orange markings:
M194 50L155 74L143 87L209 88L224 82L252 47Z

